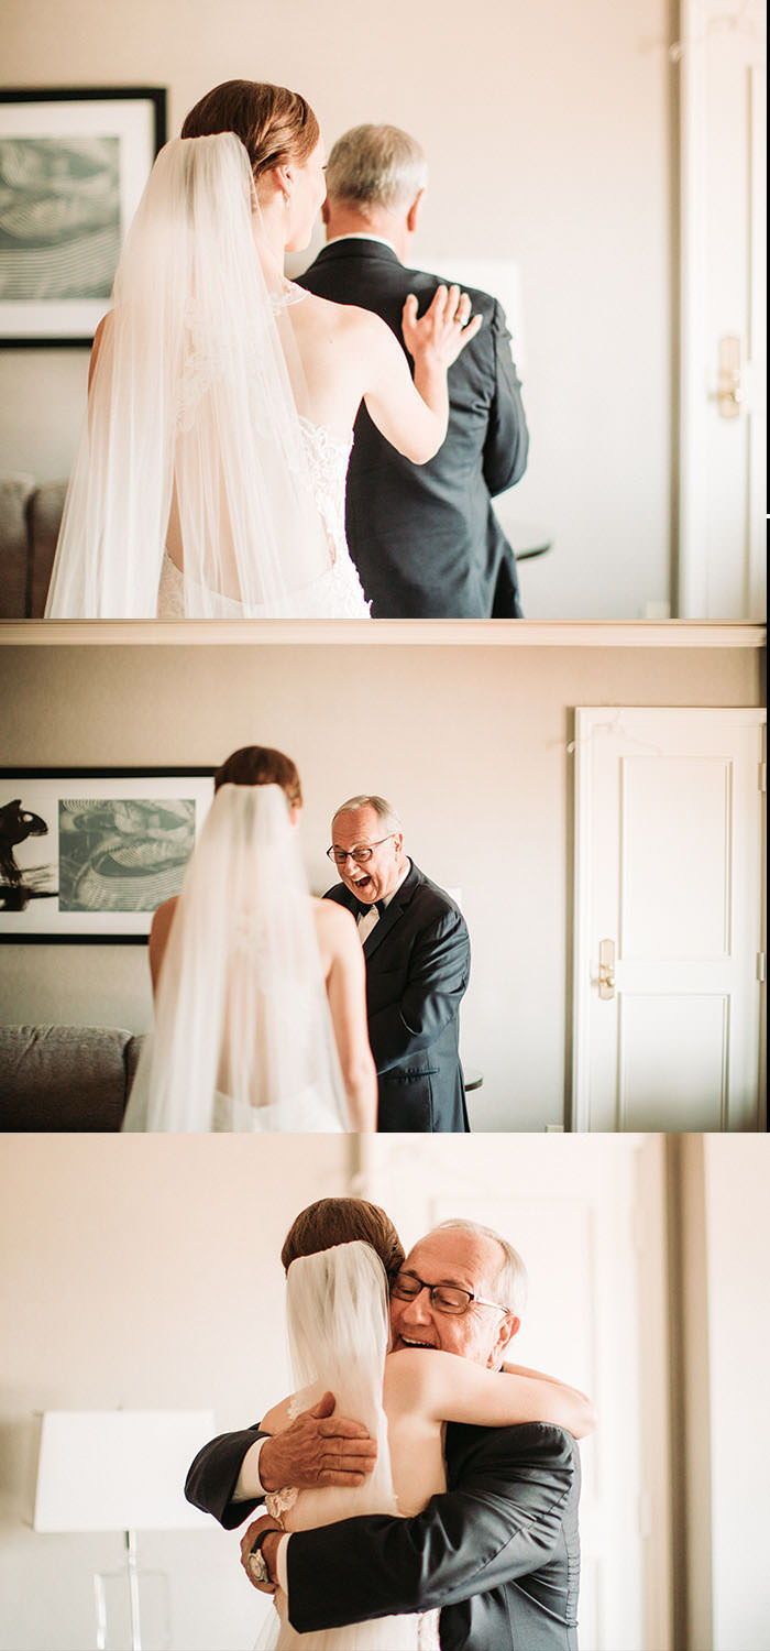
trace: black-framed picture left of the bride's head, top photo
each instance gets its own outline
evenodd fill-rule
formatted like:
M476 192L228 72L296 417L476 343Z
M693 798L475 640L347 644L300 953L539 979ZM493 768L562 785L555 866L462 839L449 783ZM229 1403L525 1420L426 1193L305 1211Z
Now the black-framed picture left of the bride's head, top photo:
M0 343L91 343L165 140L157 86L0 89Z

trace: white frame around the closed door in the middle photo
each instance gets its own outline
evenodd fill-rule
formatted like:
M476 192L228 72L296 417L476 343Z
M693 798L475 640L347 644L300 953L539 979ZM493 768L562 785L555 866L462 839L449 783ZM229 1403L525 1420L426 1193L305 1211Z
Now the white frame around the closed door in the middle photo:
M574 784L574 939L572 939L572 1114L570 1129L582 1133L590 1129L590 1005L594 982L585 967L585 959L592 956L594 943L594 878L592 878L592 844L594 832L599 822L594 819L594 773L592 773L592 741L600 728L613 728L622 723L625 715L638 713L640 710L648 710L651 713L660 713L664 710L676 712L678 717L689 713L694 718L702 718L704 715L721 715L735 717L745 721L754 721L757 728L767 730L767 712L758 707L575 707L575 784ZM767 733L763 733L763 740ZM765 745L763 745L765 755ZM762 824L765 835L765 817ZM762 855L762 863L765 855ZM765 933L762 930L762 948L765 946ZM757 1050L757 1063L760 1068L760 1085L763 1075L763 1027L765 1027L765 992L762 992L760 1001L760 1048ZM763 1095L763 1086L760 1086L760 1095Z

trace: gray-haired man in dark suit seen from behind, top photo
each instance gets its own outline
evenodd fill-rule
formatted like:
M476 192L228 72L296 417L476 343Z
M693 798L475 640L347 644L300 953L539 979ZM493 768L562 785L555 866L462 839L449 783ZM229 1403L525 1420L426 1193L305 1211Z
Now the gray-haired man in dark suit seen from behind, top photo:
M420 314L439 276L409 267L425 193L424 154L394 125L358 125L328 160L326 246L300 277L310 292L371 309L404 345L404 300ZM524 474L528 428L505 314L470 291L483 327L448 373L447 439L430 464L404 459L366 413L356 419L346 527L378 619L518 619L514 553L491 509Z

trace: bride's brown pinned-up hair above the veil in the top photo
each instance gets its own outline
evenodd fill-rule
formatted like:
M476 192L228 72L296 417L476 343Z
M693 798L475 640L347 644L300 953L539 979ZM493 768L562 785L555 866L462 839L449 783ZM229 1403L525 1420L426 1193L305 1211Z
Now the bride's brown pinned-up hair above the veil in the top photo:
M318 121L305 97L262 81L223 81L190 111L181 137L234 132L249 155L254 178L289 160L312 155Z

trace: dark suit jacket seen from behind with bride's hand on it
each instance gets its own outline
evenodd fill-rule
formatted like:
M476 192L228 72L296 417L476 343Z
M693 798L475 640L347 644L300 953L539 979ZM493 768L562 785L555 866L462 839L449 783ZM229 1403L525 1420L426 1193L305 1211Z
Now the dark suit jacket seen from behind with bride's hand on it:
M300 286L374 310L401 335L409 292L429 307L439 276L406 269L381 241L340 239ZM518 619L514 553L491 509L524 474L528 428L501 305L470 291L480 334L448 370L447 439L411 464L361 408L348 471L346 528L374 619Z

